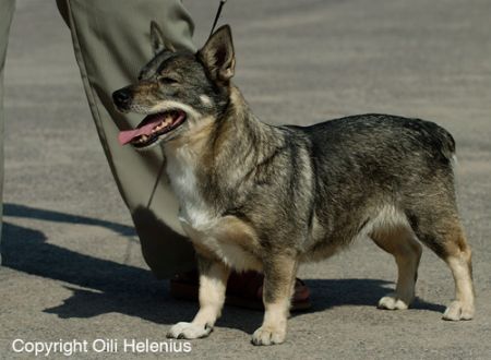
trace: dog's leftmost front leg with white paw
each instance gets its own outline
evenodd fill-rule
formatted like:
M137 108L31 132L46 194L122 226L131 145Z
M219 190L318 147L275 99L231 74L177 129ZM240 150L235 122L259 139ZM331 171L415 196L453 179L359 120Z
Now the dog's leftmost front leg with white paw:
M206 337L221 313L230 269L218 261L199 256L200 311L191 323L177 323L167 337L195 339Z

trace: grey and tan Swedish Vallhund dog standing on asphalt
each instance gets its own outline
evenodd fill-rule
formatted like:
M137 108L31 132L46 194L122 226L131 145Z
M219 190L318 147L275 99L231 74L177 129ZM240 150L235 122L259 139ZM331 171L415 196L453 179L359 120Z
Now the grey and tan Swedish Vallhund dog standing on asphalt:
M422 242L455 279L455 300L443 319L472 317L470 248L456 207L448 132L388 115L270 125L230 81L229 26L196 53L176 49L155 23L151 39L154 59L113 100L120 111L146 115L119 141L140 151L161 146L196 251L200 311L168 337L207 336L230 271L255 269L265 276L265 314L252 343L283 343L299 264L326 259L358 238L372 239L398 267L395 291L379 308L410 305Z

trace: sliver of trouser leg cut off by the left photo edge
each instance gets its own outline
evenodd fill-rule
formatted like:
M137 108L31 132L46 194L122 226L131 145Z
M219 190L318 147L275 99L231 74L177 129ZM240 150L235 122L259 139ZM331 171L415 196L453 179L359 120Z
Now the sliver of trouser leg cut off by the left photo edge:
M15 10L15 0L0 0L0 240L2 235L3 196L3 68L5 65L9 31ZM1 265L0 254L0 265Z

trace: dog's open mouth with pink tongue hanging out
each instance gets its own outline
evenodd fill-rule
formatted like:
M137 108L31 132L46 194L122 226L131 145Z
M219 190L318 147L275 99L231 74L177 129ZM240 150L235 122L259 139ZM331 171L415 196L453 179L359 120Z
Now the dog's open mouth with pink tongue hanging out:
M121 145L146 147L163 135L179 128L185 121L185 112L169 110L148 115L134 130L121 131L118 135Z

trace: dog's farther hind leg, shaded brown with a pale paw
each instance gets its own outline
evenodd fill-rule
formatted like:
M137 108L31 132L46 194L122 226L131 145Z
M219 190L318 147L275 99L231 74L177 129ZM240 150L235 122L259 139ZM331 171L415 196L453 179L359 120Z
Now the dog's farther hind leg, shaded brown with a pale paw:
M415 298L421 245L415 239L412 230L405 226L372 231L370 238L381 249L394 255L398 271L395 291L380 299L379 308L407 309Z

